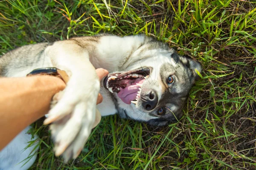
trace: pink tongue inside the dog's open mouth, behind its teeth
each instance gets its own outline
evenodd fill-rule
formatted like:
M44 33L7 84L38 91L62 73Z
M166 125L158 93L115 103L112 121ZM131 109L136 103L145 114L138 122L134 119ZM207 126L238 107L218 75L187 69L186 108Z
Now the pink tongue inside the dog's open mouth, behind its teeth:
M130 105L132 100L136 99L140 86L136 83L142 84L144 79L134 82L133 85L129 85L126 88L120 88L117 96L125 103Z

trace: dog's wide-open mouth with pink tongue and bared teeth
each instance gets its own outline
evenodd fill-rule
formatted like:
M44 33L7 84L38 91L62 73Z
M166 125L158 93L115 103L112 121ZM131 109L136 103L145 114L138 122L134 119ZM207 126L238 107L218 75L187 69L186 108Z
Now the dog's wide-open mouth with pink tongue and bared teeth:
M117 96L126 104L136 101L140 92L142 83L149 76L149 68L140 68L137 70L125 71L122 73L108 74L103 81L103 86L111 93L117 93Z

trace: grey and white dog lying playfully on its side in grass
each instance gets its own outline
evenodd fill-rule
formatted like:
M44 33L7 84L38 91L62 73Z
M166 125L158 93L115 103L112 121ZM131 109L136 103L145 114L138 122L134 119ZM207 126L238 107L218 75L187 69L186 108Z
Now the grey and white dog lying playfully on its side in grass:
M154 126L176 122L202 70L198 61L180 56L167 44L145 35L75 37L25 45L0 57L1 77L24 77L44 67L64 70L70 77L47 118L52 123L55 155L62 154L65 161L81 152L96 108L102 116L117 113ZM99 81L96 68L110 74ZM98 93L103 102L96 105ZM28 147L23 151L32 140L27 130L0 152L0 170L26 170L34 163L36 154L25 165L20 163L37 150Z

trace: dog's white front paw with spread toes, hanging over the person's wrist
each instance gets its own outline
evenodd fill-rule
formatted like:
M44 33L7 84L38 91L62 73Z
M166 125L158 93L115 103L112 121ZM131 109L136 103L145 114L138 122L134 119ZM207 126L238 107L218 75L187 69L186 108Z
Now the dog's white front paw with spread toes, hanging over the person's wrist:
M83 88L67 88L53 97L44 124L50 124L55 155L64 157L65 162L75 159L90 136L95 122L96 100L99 80L89 82ZM57 103L57 104L56 104Z

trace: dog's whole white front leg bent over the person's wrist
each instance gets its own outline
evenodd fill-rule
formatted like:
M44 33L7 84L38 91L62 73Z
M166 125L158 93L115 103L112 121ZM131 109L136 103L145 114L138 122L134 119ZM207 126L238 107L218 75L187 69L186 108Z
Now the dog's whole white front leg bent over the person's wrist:
M59 102L49 111L55 155L75 159L90 135L95 121L99 79L87 51L75 41L60 41L47 47L55 67L67 71L70 80Z

